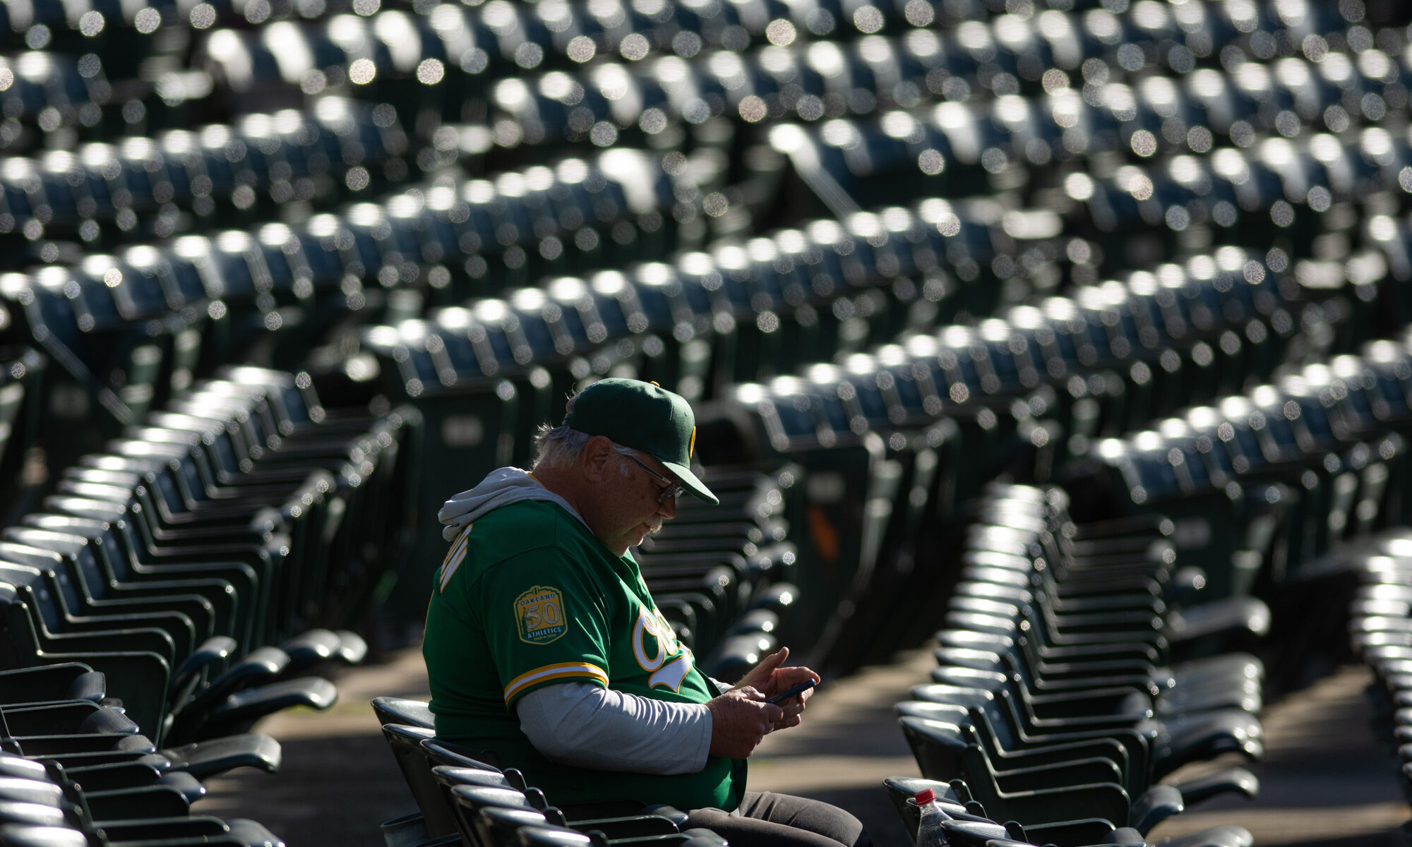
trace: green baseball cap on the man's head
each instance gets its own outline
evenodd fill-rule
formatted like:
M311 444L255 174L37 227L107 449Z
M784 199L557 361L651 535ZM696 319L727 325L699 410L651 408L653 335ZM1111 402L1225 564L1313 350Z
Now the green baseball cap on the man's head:
M696 415L690 404L657 383L599 380L573 398L563 425L641 450L672 471L682 487L716 505L720 500L692 473Z

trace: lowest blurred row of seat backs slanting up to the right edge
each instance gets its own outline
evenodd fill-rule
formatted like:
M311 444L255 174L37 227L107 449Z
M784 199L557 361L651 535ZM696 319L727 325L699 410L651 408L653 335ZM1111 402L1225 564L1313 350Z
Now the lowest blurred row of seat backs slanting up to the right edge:
M1364 539L1406 521L1406 356L1374 342L1099 442L1065 479L1076 512L1171 519L1179 549L1223 565L1202 575L1207 589L1271 603L1285 645L1267 656L1271 678L1302 685L1310 663L1348 658L1330 647L1344 618L1315 610L1351 600Z

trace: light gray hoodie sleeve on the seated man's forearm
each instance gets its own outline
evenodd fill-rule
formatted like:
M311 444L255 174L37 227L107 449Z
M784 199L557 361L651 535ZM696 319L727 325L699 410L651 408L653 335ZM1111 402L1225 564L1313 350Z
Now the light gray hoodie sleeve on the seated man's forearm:
M710 751L710 713L699 703L562 682L530 692L515 707L535 750L566 765L669 776L700 771Z

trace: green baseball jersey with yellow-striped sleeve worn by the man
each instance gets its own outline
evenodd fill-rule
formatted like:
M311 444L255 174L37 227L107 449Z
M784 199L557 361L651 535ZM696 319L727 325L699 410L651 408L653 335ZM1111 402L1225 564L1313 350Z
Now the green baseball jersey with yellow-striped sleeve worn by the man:
M515 700L566 680L669 703L716 695L633 556L614 556L555 503L503 505L452 542L432 586L422 655L436 735L493 751L551 803L740 805L744 759L707 757L702 771L675 776L590 771L551 762L520 730Z

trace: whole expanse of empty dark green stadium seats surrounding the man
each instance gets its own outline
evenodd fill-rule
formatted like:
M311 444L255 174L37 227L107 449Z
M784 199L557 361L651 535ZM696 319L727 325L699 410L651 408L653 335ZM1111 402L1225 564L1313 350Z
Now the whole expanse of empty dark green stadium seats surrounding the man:
M904 822L1144 841L1356 665L1412 761L1401 4L0 17L0 841L277 841L201 781L415 641L439 504L607 376L698 412L722 507L640 559L705 669L935 651ZM394 847L714 843L405 709Z

